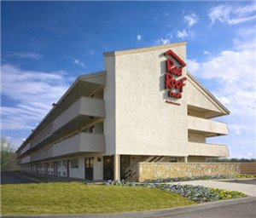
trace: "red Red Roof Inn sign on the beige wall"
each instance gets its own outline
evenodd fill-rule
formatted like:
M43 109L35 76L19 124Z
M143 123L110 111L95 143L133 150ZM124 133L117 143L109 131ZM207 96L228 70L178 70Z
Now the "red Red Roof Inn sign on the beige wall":
M184 81L187 80L183 75L183 67L186 63L180 59L171 49L166 51L166 86L168 97L181 99ZM182 77L182 78L180 78Z

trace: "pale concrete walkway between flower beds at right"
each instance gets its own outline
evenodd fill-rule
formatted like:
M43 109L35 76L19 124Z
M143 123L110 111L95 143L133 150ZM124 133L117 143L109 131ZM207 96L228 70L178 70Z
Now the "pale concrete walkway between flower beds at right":
M242 184L242 183L226 182L226 181L179 181L179 182L168 182L168 184L173 184L173 185L187 184L187 185L193 185L193 186L216 187L219 189L243 192L248 196L256 197L256 186L251 184Z

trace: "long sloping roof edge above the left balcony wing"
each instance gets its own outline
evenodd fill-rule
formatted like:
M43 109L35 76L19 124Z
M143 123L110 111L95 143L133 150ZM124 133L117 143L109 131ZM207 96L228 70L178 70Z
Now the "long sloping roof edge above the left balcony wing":
M79 77L76 78L76 80L72 83L72 85L67 89L67 91L64 93L64 95L62 95L61 98L56 102L56 105L58 105L58 104L61 103L61 100L63 100L63 99L67 96L67 94L70 93L70 91L73 89L73 87L74 87L77 83L79 83L79 81L84 80L84 79L86 79L86 78L91 78L91 77L100 77L100 76L105 75L105 73L106 73L105 71L102 71L102 72L92 72L92 73L80 75ZM55 110L55 106L53 106L53 107L49 110L49 112L44 116L44 118L41 120L41 122L38 123L38 125L37 125L37 127L34 129L34 131L33 131L30 135L28 135L28 136L26 137L26 141L28 141L28 139L29 139L30 137L32 137L33 133L39 128L39 126L40 126L42 123L44 123L44 121L46 120L46 118L48 118L49 115L50 115L54 110ZM20 149L26 144L26 141L24 141L24 142L19 146L19 148L17 149L16 152L19 152L19 151L20 151Z

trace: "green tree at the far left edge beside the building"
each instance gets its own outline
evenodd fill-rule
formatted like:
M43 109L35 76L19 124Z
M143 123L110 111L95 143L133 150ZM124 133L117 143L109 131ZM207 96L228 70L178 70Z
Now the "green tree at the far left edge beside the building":
M15 150L6 138L1 137L1 171L15 169L18 169Z

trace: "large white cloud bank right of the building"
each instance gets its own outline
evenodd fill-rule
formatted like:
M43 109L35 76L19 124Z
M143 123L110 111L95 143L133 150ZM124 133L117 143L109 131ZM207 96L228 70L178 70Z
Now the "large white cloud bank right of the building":
M239 45L239 41L236 42ZM220 118L229 124L230 135L208 142L228 144L231 157L256 156L256 55L255 43L240 42L229 49L209 56L205 62L187 60L188 70L201 80L211 83L210 91L230 110L230 116ZM210 59L210 57L212 59Z

